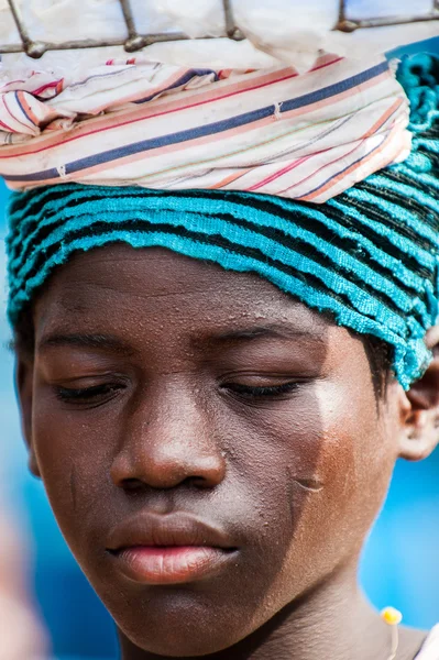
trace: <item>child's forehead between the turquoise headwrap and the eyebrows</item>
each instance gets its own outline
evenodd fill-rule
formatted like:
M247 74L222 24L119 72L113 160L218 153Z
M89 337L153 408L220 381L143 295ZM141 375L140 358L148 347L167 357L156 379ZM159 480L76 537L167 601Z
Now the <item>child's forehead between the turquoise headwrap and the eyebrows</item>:
M135 333L133 327L152 330L157 321L164 333L176 323L200 332L261 322L322 339L336 328L255 274L122 244L75 255L54 274L35 311L37 336L78 323Z

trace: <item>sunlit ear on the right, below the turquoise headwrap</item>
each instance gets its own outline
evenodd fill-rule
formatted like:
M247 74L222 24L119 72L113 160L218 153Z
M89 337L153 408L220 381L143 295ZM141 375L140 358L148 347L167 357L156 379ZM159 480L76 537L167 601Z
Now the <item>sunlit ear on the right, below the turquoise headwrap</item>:
M408 461L427 458L439 441L439 327L426 336L433 359L424 376L406 393L402 408L399 455ZM407 405L408 403L408 405Z

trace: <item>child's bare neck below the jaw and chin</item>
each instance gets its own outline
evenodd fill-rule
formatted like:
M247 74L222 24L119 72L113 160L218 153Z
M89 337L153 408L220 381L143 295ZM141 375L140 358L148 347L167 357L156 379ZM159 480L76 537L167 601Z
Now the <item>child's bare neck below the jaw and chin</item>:
M166 660L139 649L122 634L120 639L123 660ZM253 635L210 654L209 660L387 660L389 654L391 630L365 600L356 570L351 569L290 603Z

